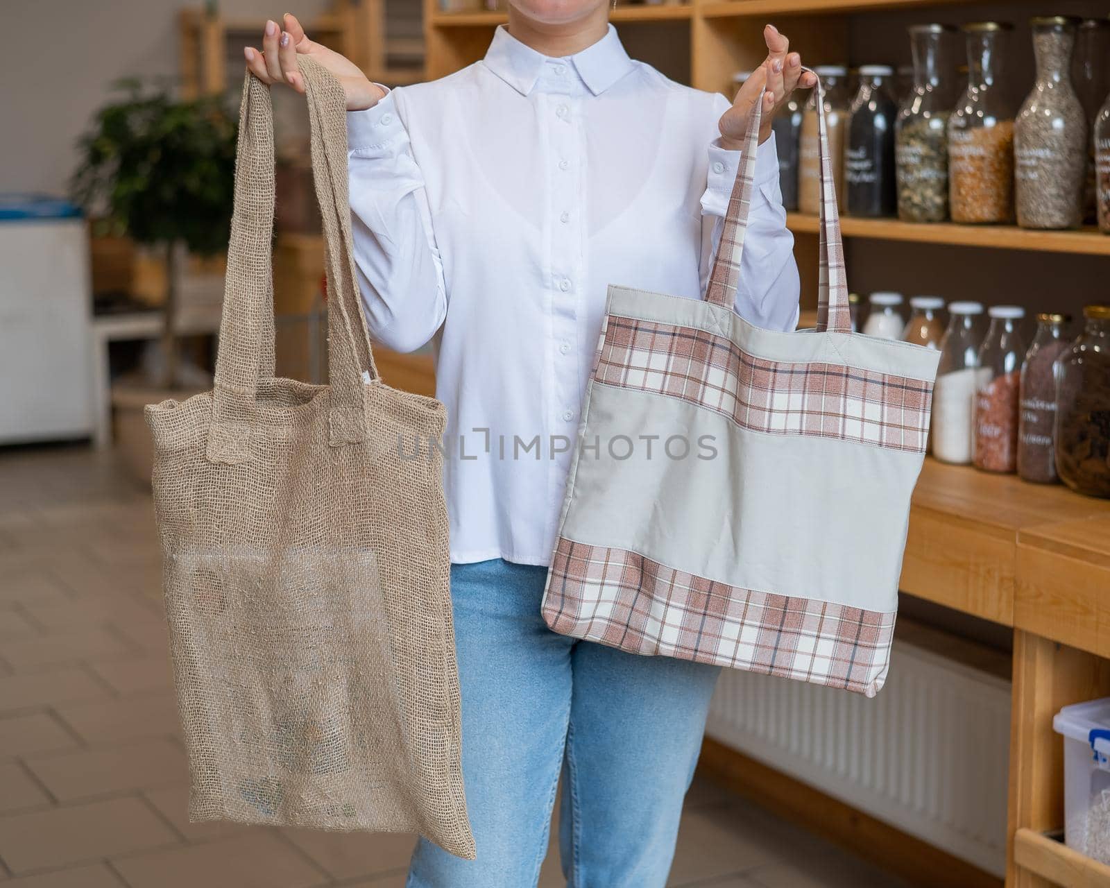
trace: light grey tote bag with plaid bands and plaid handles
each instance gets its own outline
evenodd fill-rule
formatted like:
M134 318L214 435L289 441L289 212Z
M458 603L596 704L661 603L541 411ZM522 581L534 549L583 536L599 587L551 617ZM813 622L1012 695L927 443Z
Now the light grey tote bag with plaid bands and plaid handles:
M817 327L735 313L751 117L706 299L608 289L543 615L636 654L872 696L938 355L851 332L824 115Z

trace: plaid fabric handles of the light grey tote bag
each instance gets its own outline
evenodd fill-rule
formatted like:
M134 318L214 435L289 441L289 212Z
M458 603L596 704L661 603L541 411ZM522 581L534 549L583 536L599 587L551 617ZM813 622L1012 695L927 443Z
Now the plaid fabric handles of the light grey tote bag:
M803 71L810 71L803 68ZM813 72L811 72L813 73ZM814 73L814 77L817 77ZM825 120L825 88L820 78L814 87L817 90L817 159L820 171L820 276L817 290L817 330L836 333L851 332L851 315L848 311L848 284L845 280L844 244L840 241L840 215L836 204L836 185L833 182L833 159L829 157L828 124ZM751 208L751 188L756 172L756 152L759 149L759 119L763 113L761 98L753 108L748 129L744 135L744 151L740 169L736 171L736 183L728 199L728 212L720 232L717 255L713 262L706 301L729 310L736 303L736 282L740 274L740 259L744 255L744 236L748 228L748 212Z

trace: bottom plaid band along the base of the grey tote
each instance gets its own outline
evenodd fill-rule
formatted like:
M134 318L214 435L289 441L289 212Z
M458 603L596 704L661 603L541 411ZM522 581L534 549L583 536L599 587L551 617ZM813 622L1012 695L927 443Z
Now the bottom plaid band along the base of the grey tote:
M895 612L737 588L634 552L561 537L544 592L555 632L874 697L890 662Z

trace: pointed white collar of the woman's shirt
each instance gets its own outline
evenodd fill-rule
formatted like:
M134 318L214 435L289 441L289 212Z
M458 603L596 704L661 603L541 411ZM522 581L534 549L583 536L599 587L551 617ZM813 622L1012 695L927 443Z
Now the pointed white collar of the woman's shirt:
M574 64L578 77L594 95L604 92L632 70L633 61L625 52L617 29L609 23L605 37L589 44L566 61ZM532 92L548 57L513 37L504 24L494 31L485 64L508 85L527 95Z

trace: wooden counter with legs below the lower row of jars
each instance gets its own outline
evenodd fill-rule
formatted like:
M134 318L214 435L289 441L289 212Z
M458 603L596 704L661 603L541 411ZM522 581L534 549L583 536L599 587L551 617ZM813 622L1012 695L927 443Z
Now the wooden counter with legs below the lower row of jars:
M1052 716L1110 695L1110 501L926 461L901 587L1013 627L1008 888L1110 886L1063 826Z

